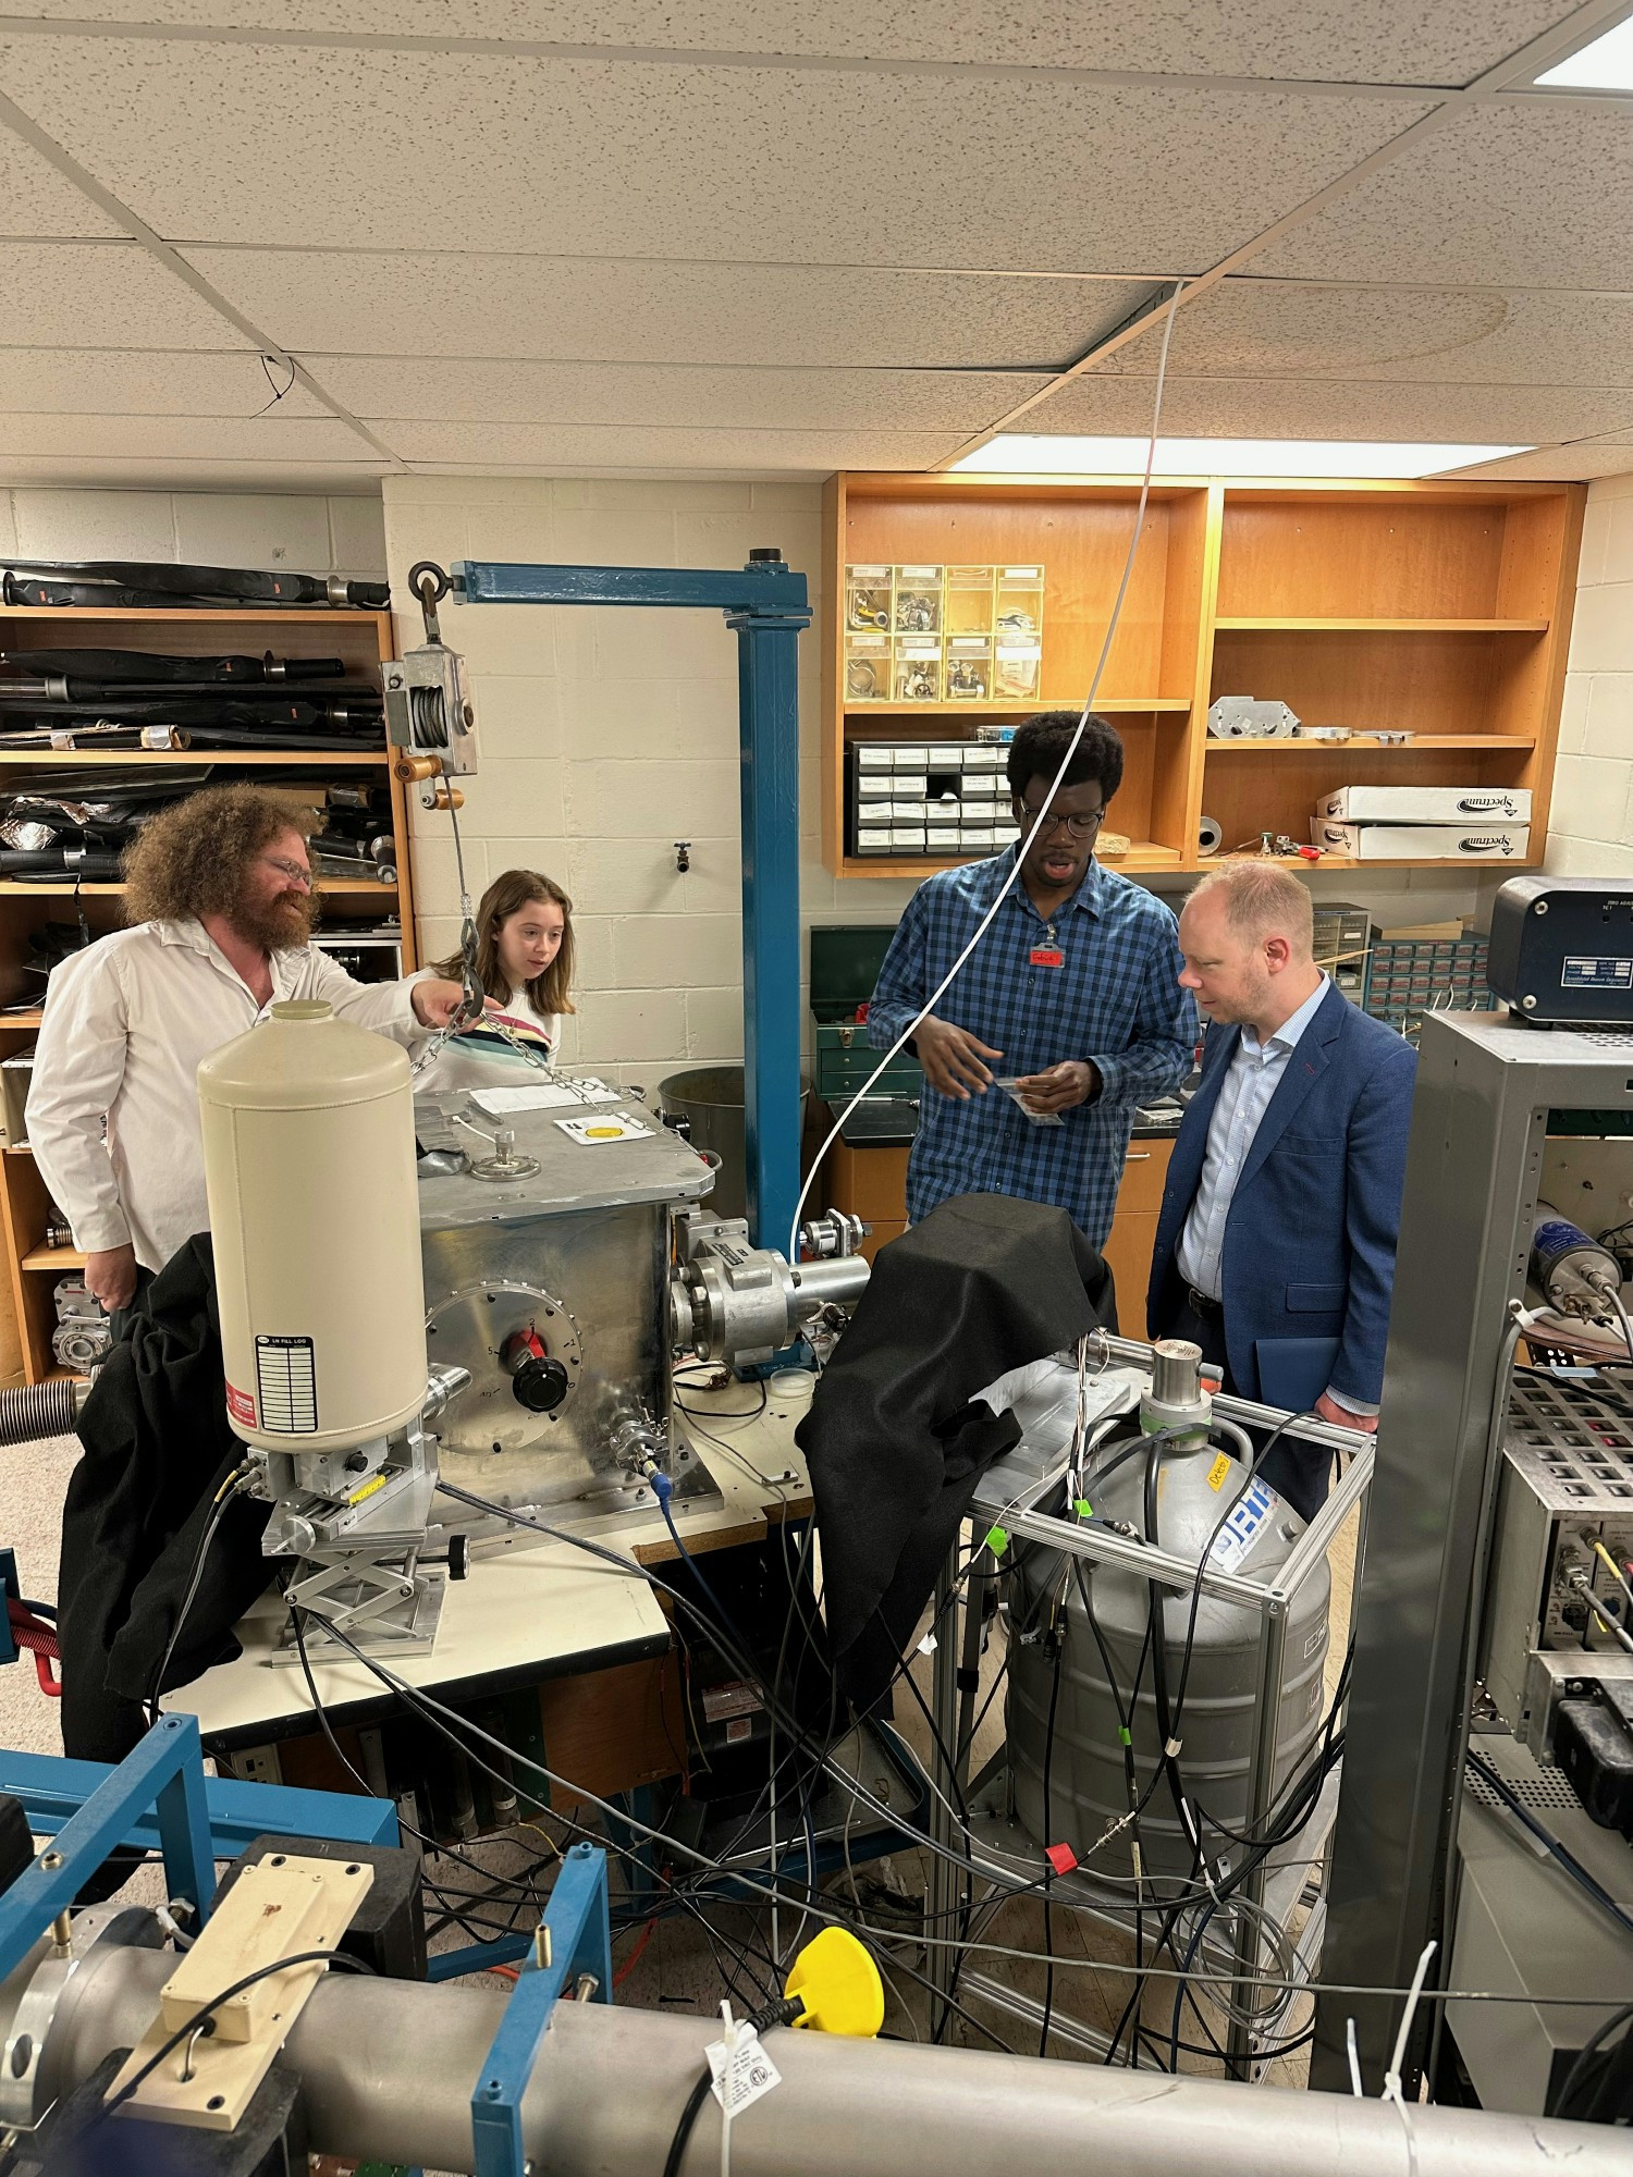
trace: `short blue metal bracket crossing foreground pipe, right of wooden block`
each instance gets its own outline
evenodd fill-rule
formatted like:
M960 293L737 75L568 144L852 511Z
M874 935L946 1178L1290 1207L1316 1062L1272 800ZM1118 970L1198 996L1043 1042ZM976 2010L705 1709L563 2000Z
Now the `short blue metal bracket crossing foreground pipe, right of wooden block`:
M523 2094L562 1990L588 1972L597 1983L592 2001L612 2003L607 1855L594 1844L575 1844L562 1859L544 1927L549 1964L538 1948L529 1953L470 2096L477 2177L525 2177Z

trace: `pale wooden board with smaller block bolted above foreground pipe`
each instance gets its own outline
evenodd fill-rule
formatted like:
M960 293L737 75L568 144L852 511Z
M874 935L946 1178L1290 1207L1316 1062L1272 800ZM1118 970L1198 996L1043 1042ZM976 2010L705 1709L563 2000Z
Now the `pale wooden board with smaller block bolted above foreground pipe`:
M375 1870L366 1861L300 1859L292 1853L268 1853L244 1868L159 1992L159 2016L131 2051L109 2096L246 1972L303 1951L333 1951L372 1881ZM181 2042L120 2107L135 2116L163 2114L170 2123L205 2131L231 2131L322 1972L322 1961L290 1966L231 1996L213 2012L213 2035Z

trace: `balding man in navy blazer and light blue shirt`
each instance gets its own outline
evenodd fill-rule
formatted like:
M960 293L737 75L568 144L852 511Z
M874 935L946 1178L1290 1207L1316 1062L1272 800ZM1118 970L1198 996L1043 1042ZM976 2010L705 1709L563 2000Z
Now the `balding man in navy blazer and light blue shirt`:
M1180 1126L1145 1302L1226 1391L1372 1430L1396 1276L1417 1054L1313 958L1311 895L1274 862L1226 862L1180 914L1180 982L1213 1019ZM1261 1467L1306 1520L1330 1459Z

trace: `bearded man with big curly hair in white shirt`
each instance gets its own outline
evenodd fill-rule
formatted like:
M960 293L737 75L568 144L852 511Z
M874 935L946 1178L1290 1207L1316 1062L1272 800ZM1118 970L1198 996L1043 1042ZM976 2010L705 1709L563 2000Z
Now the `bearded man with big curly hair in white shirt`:
M283 999L327 999L409 1049L462 999L457 982L353 982L314 949L307 840L292 808L253 786L207 786L152 816L124 877L135 927L50 977L28 1091L35 1165L109 1313L209 1230L202 1058Z

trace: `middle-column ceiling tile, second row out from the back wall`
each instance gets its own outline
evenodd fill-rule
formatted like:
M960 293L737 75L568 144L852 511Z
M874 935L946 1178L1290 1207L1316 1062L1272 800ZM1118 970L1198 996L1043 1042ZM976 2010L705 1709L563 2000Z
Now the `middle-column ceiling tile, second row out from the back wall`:
M355 416L742 431L980 431L1045 377L303 357Z

